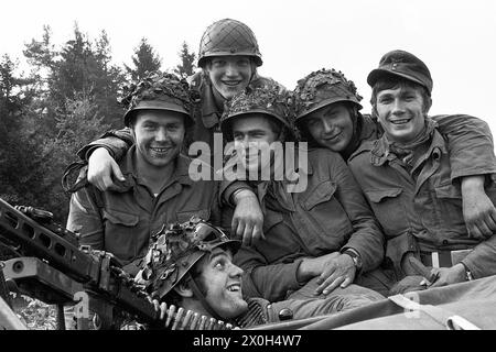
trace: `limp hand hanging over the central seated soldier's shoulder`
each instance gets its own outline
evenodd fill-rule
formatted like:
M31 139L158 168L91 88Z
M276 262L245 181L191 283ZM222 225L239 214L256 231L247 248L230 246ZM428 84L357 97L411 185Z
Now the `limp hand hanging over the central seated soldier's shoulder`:
M263 213L257 196L249 189L241 190L236 195L236 209L231 221L231 231L237 238L242 238L242 244L251 245L263 235Z

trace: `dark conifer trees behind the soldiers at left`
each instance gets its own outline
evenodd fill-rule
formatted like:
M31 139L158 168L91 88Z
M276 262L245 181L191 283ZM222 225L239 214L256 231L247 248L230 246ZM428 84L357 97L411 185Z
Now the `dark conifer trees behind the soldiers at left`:
M187 46L183 52L194 55ZM65 223L69 197L61 187L64 168L82 146L122 127L119 87L126 78L160 69L161 58L142 38L132 56L134 67L118 67L107 33L93 40L77 24L62 45L53 43L45 25L23 55L29 64L23 75L15 59L0 58L0 197L50 210Z

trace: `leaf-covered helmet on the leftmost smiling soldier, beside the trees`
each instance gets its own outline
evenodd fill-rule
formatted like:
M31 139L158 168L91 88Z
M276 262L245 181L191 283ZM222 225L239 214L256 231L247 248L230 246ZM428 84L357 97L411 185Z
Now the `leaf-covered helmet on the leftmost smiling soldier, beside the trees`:
M138 82L122 87L119 102L127 108L123 116L125 125L129 127L139 110L166 110L185 116L185 125L192 125L198 94L190 89L184 78L173 74L154 72Z

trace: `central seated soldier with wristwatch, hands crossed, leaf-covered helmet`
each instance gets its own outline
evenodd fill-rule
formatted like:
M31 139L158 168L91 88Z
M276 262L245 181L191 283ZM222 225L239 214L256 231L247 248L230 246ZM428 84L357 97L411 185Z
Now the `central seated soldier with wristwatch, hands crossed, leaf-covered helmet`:
M294 170L295 178L305 178L308 186L288 193L292 180L276 176L276 170L288 165L274 166L274 153L259 160L257 150L249 150L249 144L272 146L291 134L288 97L278 91L277 87L258 88L236 96L226 105L220 122L224 135L234 139L237 166L250 173L270 168L269 179L249 182L263 209L267 239L242 246L235 256L235 263L246 271L245 294L271 301L332 300L334 295L346 294L378 299L379 294L351 285L360 273L379 265L384 242L341 156L326 148L308 151L308 164L298 164Z

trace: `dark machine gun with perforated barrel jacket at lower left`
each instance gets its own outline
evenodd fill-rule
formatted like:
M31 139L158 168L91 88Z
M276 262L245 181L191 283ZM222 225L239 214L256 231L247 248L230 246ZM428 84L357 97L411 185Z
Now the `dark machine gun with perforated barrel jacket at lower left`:
M56 224L50 212L14 208L0 198L0 239L26 255L3 263L6 278L20 293L56 304L60 328L65 328L63 306L74 305L75 297L88 297L86 309L97 314L101 329L118 329L122 318L159 321L147 294L121 263L108 252L79 248L77 234ZM80 322L84 329L87 321Z

